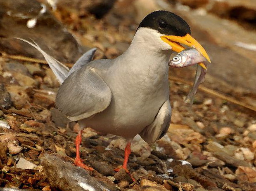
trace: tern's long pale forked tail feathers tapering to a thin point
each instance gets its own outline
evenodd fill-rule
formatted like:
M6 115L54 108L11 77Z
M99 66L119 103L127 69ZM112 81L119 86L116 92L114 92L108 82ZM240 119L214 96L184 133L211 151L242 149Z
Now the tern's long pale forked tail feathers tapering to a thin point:
M68 77L69 74L69 68L67 68L64 64L57 61L55 58L52 58L52 56L48 55L45 51L43 51L36 42L29 42L27 40L24 40L22 38L17 38L19 40L22 40L28 44L30 44L32 47L35 47L38 51L40 51L41 54L45 57L45 60L47 61L48 65L52 69L52 72L57 77L60 84Z

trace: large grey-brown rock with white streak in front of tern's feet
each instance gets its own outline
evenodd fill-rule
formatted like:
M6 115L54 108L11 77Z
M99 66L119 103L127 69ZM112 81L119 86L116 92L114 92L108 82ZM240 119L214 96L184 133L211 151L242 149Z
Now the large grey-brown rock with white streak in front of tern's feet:
M64 162L57 156L44 154L41 161L52 188L62 191L119 191L114 185L97 181L86 170Z

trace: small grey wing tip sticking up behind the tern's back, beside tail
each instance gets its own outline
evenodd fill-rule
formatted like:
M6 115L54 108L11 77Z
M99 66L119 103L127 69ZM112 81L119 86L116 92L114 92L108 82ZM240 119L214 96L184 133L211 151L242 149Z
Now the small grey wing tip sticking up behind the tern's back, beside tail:
M85 54L83 54L78 59L78 61L76 61L76 63L72 66L72 68L69 70L68 76L71 75L76 70L79 70L80 68L82 68L84 65L86 65L90 61L92 61L92 58L93 58L96 50L97 50L97 48L93 48L93 49L90 49L87 52L85 52Z

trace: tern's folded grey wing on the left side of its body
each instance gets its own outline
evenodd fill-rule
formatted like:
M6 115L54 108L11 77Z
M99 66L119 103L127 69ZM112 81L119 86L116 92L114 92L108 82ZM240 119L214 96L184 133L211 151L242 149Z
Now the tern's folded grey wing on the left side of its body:
M102 65L108 61L102 62ZM59 87L57 108L71 120L78 121L102 112L111 102L111 90L91 64L73 72Z

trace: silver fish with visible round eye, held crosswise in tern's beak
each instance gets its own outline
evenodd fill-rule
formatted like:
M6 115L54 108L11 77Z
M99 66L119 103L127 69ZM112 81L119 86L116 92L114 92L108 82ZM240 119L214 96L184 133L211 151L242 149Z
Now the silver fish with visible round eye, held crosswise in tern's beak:
M206 58L197 49L185 49L178 53L169 61L168 65L174 68L183 68L185 66L194 65L200 63L202 68L206 67L202 62L205 62Z

